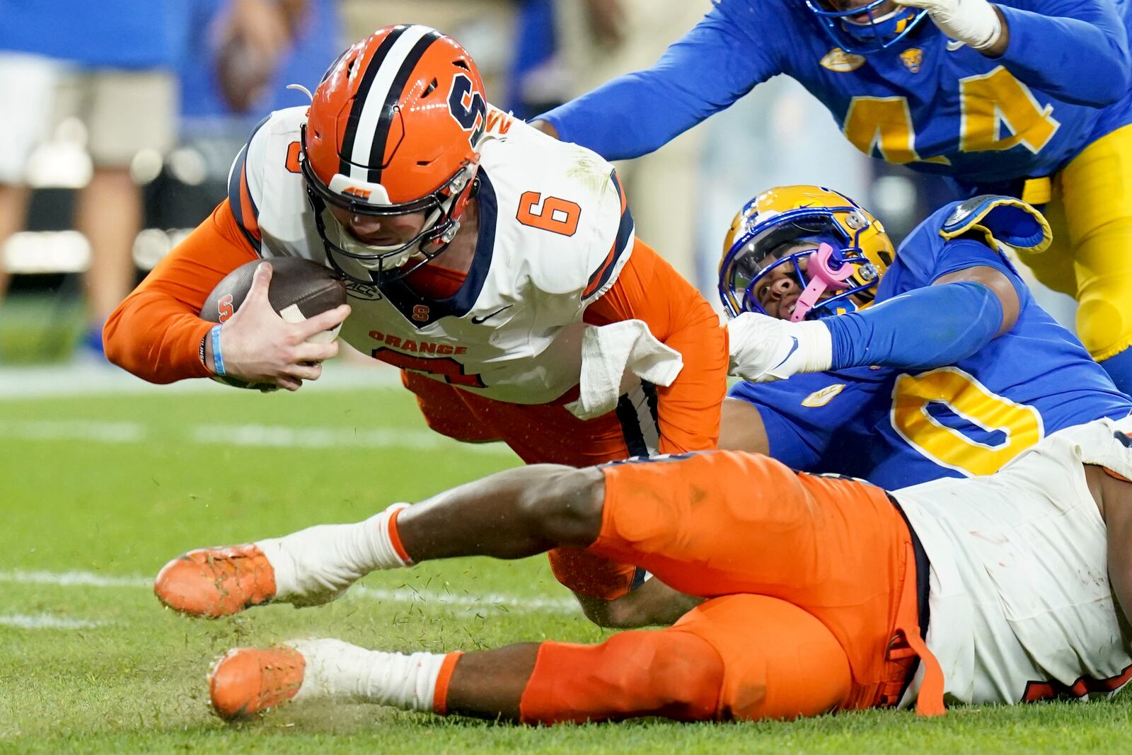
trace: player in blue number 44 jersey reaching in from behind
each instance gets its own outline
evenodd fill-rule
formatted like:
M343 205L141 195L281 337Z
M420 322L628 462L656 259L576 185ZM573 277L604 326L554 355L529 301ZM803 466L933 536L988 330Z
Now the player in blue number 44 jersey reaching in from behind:
M1115 0L718 0L651 69L539 126L635 157L786 74L868 155L1048 203L1055 243L1024 260L1078 299L1081 340L1129 393L1130 24Z

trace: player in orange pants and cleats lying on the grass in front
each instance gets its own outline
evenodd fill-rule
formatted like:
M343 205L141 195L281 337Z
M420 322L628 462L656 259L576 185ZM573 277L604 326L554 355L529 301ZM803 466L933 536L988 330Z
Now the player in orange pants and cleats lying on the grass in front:
M1096 420L997 474L892 494L743 452L528 466L357 524L191 551L155 592L221 616L324 602L375 569L573 546L703 600L672 627L594 645L240 649L209 678L225 718L319 697L525 723L1087 697L1132 677L1126 429Z

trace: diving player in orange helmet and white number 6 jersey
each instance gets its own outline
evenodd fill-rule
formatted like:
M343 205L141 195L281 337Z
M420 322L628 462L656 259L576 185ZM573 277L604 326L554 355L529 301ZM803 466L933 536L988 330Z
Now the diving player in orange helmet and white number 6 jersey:
M225 274L282 256L338 271L349 306L285 323L261 265L249 306L220 326L199 317ZM718 439L717 315L634 237L609 163L488 104L466 51L426 26L379 29L331 66L309 108L259 125L228 199L110 318L106 353L154 383L226 375L293 391L336 351L305 338L340 323L342 340L403 370L432 429L504 440L528 463ZM585 572L584 558L552 563L591 595L636 578Z

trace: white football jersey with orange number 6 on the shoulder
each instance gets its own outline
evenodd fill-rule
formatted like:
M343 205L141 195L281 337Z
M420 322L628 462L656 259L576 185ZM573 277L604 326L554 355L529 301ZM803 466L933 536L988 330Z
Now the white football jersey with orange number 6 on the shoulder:
M232 166L229 199L260 256L329 266L299 173L306 110L281 110L260 125ZM496 108L479 178L479 240L461 289L431 301L401 282L381 291L351 282L353 314L340 337L490 398L547 403L578 384L582 312L627 261L633 220L612 165ZM335 261L369 278L360 265Z

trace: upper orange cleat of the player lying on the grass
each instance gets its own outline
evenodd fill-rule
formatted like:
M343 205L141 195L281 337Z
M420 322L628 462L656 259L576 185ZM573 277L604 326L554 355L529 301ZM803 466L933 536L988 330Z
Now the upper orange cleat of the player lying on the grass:
M153 592L182 614L231 616L275 597L275 570L251 544L201 548L165 564Z

